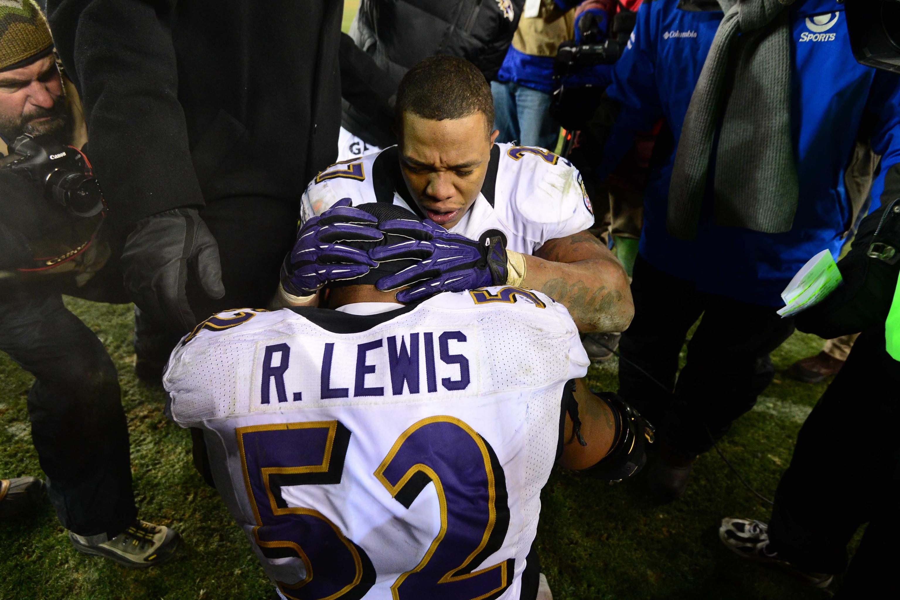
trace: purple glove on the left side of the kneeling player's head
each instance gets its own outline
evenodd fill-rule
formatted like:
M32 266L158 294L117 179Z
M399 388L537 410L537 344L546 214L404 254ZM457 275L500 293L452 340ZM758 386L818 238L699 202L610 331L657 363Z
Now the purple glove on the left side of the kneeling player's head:
M281 282L294 296L309 296L327 282L355 279L376 266L365 250L339 242L374 242L384 236L375 225L378 219L364 210L352 208L342 198L318 217L303 224L293 251L284 257Z

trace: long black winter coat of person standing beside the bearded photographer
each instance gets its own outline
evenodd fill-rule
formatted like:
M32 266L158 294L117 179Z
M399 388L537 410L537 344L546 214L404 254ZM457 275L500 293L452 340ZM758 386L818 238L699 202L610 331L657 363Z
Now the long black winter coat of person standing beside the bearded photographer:
M297 202L334 162L338 0L48 0L110 217Z

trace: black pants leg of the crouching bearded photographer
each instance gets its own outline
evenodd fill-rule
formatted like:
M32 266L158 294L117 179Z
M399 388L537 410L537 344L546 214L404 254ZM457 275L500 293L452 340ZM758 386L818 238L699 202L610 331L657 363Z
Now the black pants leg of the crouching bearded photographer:
M36 378L31 438L59 520L85 537L118 535L137 509L119 381L103 344L58 288L41 283L0 291L0 350Z

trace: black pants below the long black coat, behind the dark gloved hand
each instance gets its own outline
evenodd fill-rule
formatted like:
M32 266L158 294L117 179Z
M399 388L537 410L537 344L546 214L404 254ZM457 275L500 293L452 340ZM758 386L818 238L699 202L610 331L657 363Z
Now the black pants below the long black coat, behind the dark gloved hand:
M299 199L298 199L299 200ZM278 288L284 255L297 234L299 202L260 197L211 201L201 216L219 244L225 296L212 300L189 281L187 297L197 320L225 309L264 309ZM168 323L135 310L135 353L165 363L181 336Z

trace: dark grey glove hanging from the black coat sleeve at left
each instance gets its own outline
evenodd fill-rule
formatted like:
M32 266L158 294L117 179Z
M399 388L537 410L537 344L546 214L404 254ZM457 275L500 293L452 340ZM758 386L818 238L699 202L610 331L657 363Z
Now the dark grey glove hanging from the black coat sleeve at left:
M171 327L197 324L187 302L188 277L215 300L225 295L219 246L195 209L173 209L140 219L121 253L125 289L141 310Z

